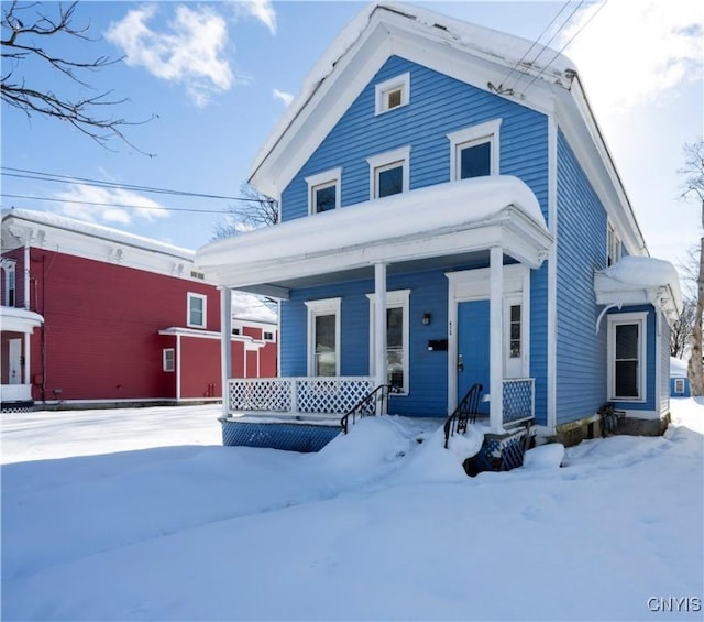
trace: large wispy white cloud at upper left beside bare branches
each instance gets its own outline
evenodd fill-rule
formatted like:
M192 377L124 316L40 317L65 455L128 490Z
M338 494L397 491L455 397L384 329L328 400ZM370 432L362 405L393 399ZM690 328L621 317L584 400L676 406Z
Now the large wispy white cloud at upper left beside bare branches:
M125 54L130 66L144 67L154 76L183 83L196 106L208 103L213 92L227 91L234 83L223 57L228 43L224 19L207 7L177 6L168 30L152 30L155 4L133 9L110 25L108 41Z

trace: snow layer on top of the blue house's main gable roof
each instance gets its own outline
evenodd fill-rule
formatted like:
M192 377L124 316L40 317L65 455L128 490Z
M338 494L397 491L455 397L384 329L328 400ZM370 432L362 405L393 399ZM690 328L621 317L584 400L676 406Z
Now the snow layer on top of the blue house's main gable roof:
M365 7L318 58L304 79L300 91L256 154L250 177L275 148L279 138L298 117L318 87L332 74L340 59L361 40L375 15L378 15L380 20L391 18L398 21L398 18L405 18L410 22L410 26L422 29L432 33L433 36L441 36L453 47L490 58L512 69L519 66L520 72L535 73L540 76L540 79L571 79L570 75L575 72L574 63L566 56L527 39L455 20L410 4L373 3ZM531 50L532 61L524 58L529 50ZM541 61L538 62L538 58Z

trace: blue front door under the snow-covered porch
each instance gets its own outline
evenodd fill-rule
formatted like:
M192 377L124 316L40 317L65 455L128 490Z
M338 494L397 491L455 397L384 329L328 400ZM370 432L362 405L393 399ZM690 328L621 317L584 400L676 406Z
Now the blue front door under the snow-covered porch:
M488 301L458 305L458 402L471 386L482 384L488 393ZM480 411L488 413L488 403L481 402Z

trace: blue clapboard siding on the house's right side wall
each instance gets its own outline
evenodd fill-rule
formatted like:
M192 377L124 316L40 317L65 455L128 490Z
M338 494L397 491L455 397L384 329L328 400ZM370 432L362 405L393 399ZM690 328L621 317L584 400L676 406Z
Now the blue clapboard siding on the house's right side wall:
M606 401L606 329L594 272L606 268L607 217L563 133L558 133L557 423L596 413Z

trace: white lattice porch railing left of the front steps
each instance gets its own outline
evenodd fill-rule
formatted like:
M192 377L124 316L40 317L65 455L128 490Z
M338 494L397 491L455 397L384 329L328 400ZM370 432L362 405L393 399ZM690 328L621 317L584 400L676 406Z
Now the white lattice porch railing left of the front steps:
M320 413L343 415L374 390L372 377L232 378L228 413Z

